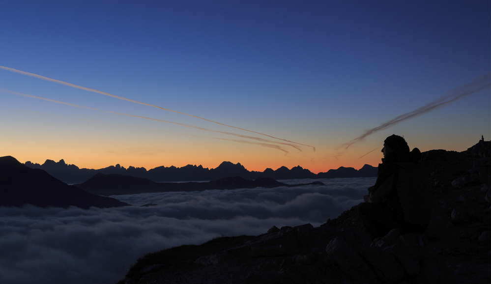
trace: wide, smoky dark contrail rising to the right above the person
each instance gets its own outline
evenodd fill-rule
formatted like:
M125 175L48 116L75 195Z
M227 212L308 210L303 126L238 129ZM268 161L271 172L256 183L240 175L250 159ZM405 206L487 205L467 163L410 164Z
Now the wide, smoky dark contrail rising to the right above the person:
M350 142L344 143L343 145L337 147L336 149L339 148L345 148L345 150L348 149L349 146L356 142L360 142L365 140L367 136L370 136L374 134L375 132L378 132L380 130L383 130L385 128L391 127L393 125L396 125L400 122L403 122L404 120L414 118L418 115L421 114L426 114L429 113L437 108L440 108L448 103L454 102L458 99L461 99L465 96L471 95L473 93L485 90L490 87L490 77L491 73L488 73L484 76L478 77L471 82L461 85L453 90L450 90L447 95L442 96L440 98L437 98L433 102L430 102L422 107L419 107L415 109L412 112L401 114L394 119L391 119L385 123L382 123L380 126L372 128L370 130L365 131L362 135L358 136L357 138L351 140Z

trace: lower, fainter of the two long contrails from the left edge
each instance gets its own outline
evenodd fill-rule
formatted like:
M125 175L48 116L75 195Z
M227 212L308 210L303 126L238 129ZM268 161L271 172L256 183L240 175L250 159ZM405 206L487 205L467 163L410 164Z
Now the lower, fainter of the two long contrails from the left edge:
M168 120L162 120L162 119L157 119L157 118L151 118L151 117L146 117L146 116L140 116L140 115L134 115L134 114L125 114L125 113L118 113L118 112L111 112L111 111L104 111L104 110L99 110L99 109L95 109L95 108L91 108L91 107L85 107L85 106L80 106L80 105L65 103L65 102L61 102L61 101L57 101L57 100L52 100L52 99L43 98L43 97L37 97L37 96L29 95L29 94L18 93L18 92L4 90L4 89L0 89L0 92L7 93L7 94L12 94L12 95L17 95L17 96L23 96L23 97L29 97L29 98L39 99L39 100L44 100L44 101L49 101L49 102L53 102L53 103L58 103L58 104L63 104L63 105L75 107L75 108L80 108L80 109L87 109L87 110L98 111L98 112L103 112L103 113L110 113L110 114L117 114L117 115L122 115L122 116L138 117L138 118L143 118L143 119L148 119L148 120L153 120L153 121L158 121L158 122L172 123L172 124L176 124L176 125L179 125L179 126L184 126L184 127L199 129L199 130L208 131L208 132L221 133L221 134L226 134L226 135L231 135L231 136L237 136L237 137L241 137L241 138L247 138L247 139L251 139L251 140L258 140L258 141L262 141L262 142L270 142L270 143L275 143L275 144L283 144L283 145L291 146L291 147L293 147L293 148L295 148L295 149L297 149L299 151L302 151L297 146L292 145L292 144L289 144L289 143L284 143L284 142L273 142L273 141L262 139L262 138L258 138L258 137L241 135L241 134L236 134L236 133L231 133L231 132L216 131L216 130L211 130L211 129L204 128L204 127L198 127L198 126L193 126L193 125L189 125L189 124L178 123L178 122L173 122L173 121L168 121ZM223 140L227 140L227 139L223 139ZM239 142L239 141L235 141L235 140L229 140L229 141ZM253 142L251 142L251 143L253 143ZM265 144L265 143L255 143L255 144L262 145L262 144ZM271 144L265 144L265 145L271 145ZM281 151L286 152L288 154L288 151L284 150L280 146L278 146L278 147L268 146L268 147L277 148L278 150L281 150Z

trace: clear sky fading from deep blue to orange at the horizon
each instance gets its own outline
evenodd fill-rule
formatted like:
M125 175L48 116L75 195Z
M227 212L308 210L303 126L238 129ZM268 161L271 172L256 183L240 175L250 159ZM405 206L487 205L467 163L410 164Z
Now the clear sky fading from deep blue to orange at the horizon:
M341 146L489 73L490 15L488 0L2 1L0 66L256 133L0 69L0 156L317 173L376 166L392 134L462 151L490 140L489 88Z

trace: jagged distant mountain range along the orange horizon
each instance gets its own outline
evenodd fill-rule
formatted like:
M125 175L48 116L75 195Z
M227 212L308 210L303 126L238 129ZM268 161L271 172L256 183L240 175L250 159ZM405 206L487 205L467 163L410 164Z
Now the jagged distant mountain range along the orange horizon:
M68 184L80 184L87 181L96 173L103 174L123 174L134 177L146 178L154 182L172 182L172 181L199 181L199 180L217 180L225 177L242 177L246 180L254 180L259 177L269 177L275 180L278 179L300 179L300 178L336 178L336 177L374 177L377 174L377 168L370 165L363 166L360 170L354 168L340 167L337 170L328 170L327 172L319 172L315 174L310 170L303 169L300 166L288 169L281 167L277 170L270 168L264 171L249 171L240 163L233 164L231 162L223 162L215 169L203 168L201 165L187 165L182 168L157 167L151 170L145 168L128 167L125 169L119 164L107 168L94 169L79 169L75 165L68 165L65 161L46 160L44 164L34 164L30 161L25 165L31 169L45 170L52 176Z

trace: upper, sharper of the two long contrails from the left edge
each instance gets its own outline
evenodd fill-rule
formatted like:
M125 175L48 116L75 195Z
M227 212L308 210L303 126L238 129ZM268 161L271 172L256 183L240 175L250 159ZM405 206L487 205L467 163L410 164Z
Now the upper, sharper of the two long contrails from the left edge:
M186 114L186 113L181 113L181 112L177 112L177 111L165 109L165 108L162 108L162 107L159 107L159 106L156 106L156 105L147 104L147 103L140 102L140 101L135 101L135 100L128 99L128 98L125 98L125 97L116 96L116 95L113 95L113 94L110 94L110 93L106 93L106 92L102 92L102 91L99 91L99 90L95 90L95 89L91 89L91 88L87 88L87 87L83 87L83 86L79 86L79 85L70 84L70 83L67 83L67 82L59 81L59 80L56 80L56 79L51 79L51 78L44 77L44 76L41 76L41 75L37 75L37 74L33 74L33 73L29 73L29 72L25 72L25 71L21 71L21 70L17 70L17 69L5 67L5 66L0 66L0 69L3 69L5 71L14 72L14 73L19 73L19 74L26 75L26 76L31 76L31 77L34 77L34 78L46 80L46 81L53 82L53 83L58 83L58 84L61 84L61 85L66 85L66 86L70 86L70 87L74 87L74 88L86 90L86 91L89 91L89 92L99 93L99 94L110 96L110 97L113 97L113 98L116 98L116 99L120 99L120 100L124 100L124 101L128 101L128 102L132 102L132 103L136 103L136 104L141 104L141 105L144 105L144 106L149 106L149 107L157 108L157 109L168 111L168 112L173 112L173 113L176 113L176 114L184 114L184 115L187 115L187 116L199 118L199 119L202 119L202 120L205 120L205 121L208 121L208 122L212 122L212 123L216 123L216 124L220 124L220 125L223 125L223 126L227 126L227 127L231 127L231 128L235 128L235 129L239 129L239 130L243 130L243 131L252 132L252 133L259 134L259 135L267 136L269 138L273 138L273 139L277 139L277 140L282 140L282 141L294 143L294 144L297 144L297 145L311 147L311 148L314 149L314 151L316 151L316 147L314 147L314 146L310 146L310 145L306 145L306 144L301 144L301 143L297 143L297 142L292 142L292 141L289 141L289 140L286 140L286 139L277 138L277 137L274 137L274 136L271 136L271 135L267 135L267 134L264 134L264 133L260 133L260 132L256 132L256 131L252 131L252 130L247 130L247 129L240 128L240 127L231 126L231 125L224 124L224 123L221 123L221 122L209 120L209 119L206 119L206 118L203 118L203 117L200 117L200 116L196 116L196 115L192 115L192 114Z

